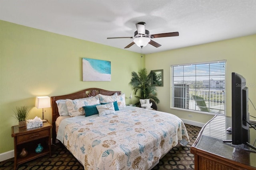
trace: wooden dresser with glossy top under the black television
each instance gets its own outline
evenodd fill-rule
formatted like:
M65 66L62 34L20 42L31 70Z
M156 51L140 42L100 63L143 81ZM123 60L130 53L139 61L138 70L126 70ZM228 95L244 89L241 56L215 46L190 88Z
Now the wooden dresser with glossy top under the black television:
M231 140L226 129L231 117L215 116L201 129L190 152L195 155L195 170L256 170L256 151L244 144L223 143ZM254 144L256 131L250 129L250 144ZM255 144L254 144L255 146Z

